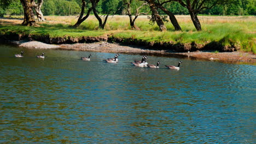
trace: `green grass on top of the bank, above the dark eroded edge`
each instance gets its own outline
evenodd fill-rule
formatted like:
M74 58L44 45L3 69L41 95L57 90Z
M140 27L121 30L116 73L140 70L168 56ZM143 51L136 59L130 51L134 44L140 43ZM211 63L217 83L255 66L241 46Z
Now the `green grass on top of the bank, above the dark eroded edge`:
M242 21L241 21L242 19ZM255 18L254 18L255 19ZM68 23L69 22L69 23ZM141 31L131 30L129 21L123 17L109 17L105 29L98 28L96 19L88 19L77 28L72 25L75 19L67 23L39 23L38 27L19 25L0 25L0 34L18 33L33 35L48 35L55 37L100 37L111 35L113 38L136 39L146 42L169 42L207 44L211 41L219 41L223 45L238 45L241 51L256 53L256 22L251 19L234 18L232 20L207 18L201 21L202 31L197 32L189 19L179 20L182 31L174 31L170 22L166 23L167 31L160 32L156 23L150 24L147 19L138 19L136 25Z

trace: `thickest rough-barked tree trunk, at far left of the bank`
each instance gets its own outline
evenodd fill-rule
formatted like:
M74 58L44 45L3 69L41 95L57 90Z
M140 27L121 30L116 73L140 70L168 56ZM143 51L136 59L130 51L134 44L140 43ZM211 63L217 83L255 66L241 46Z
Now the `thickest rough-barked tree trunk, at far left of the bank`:
M34 21L34 13L33 13L33 2L34 0L20 0L23 9L24 9L24 21L22 25L25 26L34 26L36 21Z

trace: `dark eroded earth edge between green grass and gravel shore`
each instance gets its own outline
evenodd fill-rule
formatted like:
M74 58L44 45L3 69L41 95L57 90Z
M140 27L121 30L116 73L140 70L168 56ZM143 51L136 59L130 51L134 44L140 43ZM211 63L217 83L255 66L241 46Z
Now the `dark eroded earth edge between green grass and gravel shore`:
M33 35L33 34L17 34L8 33L0 35L1 41L10 40L29 40L41 41L46 44L76 44L76 43L96 43L106 41L109 43L118 43L122 45L143 46L150 50L165 50L168 52L194 52L194 51L210 51L217 50L219 52L234 52L240 50L240 46L229 39L219 41L208 41L205 44L197 44L194 41L191 43L174 43L173 41L143 41L134 38L117 38L113 35L105 35L101 37L56 37L51 38L49 35Z

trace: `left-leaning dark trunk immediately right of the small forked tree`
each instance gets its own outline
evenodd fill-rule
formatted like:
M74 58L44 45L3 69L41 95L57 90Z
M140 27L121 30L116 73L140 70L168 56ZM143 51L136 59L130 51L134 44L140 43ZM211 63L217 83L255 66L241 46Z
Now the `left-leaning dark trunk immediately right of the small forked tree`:
M166 31L166 27L164 21L162 21L160 15L158 14L158 10L154 4L153 0L147 0L149 3L150 10L152 11L152 18L156 21L161 31Z

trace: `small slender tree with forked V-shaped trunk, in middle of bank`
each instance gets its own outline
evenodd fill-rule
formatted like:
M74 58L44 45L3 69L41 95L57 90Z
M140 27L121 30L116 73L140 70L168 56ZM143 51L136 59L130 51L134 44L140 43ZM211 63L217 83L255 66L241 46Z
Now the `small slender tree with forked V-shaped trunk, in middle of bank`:
M130 26L132 29L137 29L139 30L139 27L137 27L135 25L135 21L136 19L138 18L138 16L141 14L139 13L139 9L141 9L144 5L148 4L147 2L146 3L142 3L137 9L136 9L136 12L135 12L135 16L134 18L132 18L132 15L133 15L133 12L132 12L132 7L131 7L131 4L132 4L132 0L124 0L124 4L126 5L126 8L125 8L125 14L129 16L129 19L130 19ZM138 3L138 1L137 1Z

